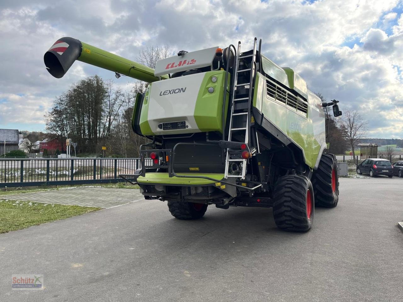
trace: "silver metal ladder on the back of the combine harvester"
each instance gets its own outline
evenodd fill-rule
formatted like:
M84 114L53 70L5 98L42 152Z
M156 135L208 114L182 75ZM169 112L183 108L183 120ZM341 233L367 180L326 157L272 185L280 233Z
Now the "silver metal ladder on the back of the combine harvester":
M251 99L252 99L252 85L253 85L253 77L256 69L256 38L253 42L253 52L252 54L241 54L241 41L238 42L238 50L236 56L236 65L234 70L234 85L233 85L233 93L232 93L232 103L231 103L231 116L229 122L229 133L228 133L228 141L231 141L233 132L244 132L245 134L245 144L249 146L249 136L250 136L250 123L251 123ZM250 68L240 68L243 66L244 58L251 58ZM242 66L241 66L242 65ZM238 78L241 76L245 78L249 75L248 83L238 84ZM249 86L249 94L248 97L239 97L239 93L237 93L237 87L245 87L246 89ZM239 108L238 104L246 104L247 107ZM245 111L246 110L246 111ZM245 118L246 117L246 118ZM237 125L234 124L234 120L238 119ZM241 123L239 123L241 120ZM234 177L245 179L246 174L246 165L247 159L241 158L231 158L231 157L239 157L239 152L237 155L231 154L230 148L226 150L226 159L225 159L225 178ZM233 155L233 156L232 156ZM238 162L242 164L242 172L238 175L232 175L229 173L230 164L233 162Z

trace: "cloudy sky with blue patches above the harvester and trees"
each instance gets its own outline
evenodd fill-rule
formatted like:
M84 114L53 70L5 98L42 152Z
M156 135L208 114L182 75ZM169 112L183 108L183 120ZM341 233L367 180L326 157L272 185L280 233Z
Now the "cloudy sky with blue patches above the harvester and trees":
M403 139L403 0L1 0L0 128L44 130L69 85L112 72L75 62L62 79L43 55L74 37L135 59L144 46L251 47L294 68L312 91L359 110L370 137ZM121 77L119 85L133 79Z

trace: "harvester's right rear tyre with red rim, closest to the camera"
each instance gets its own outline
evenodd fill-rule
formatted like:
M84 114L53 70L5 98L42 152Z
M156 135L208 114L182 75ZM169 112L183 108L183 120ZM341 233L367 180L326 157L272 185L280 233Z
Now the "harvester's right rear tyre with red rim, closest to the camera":
M273 199L274 222L278 228L289 232L307 232L312 228L315 199L309 178L301 175L279 178Z

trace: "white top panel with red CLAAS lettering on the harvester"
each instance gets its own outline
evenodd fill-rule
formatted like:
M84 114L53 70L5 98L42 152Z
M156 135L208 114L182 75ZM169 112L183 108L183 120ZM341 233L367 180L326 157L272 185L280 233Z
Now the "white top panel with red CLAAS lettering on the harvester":
M218 46L159 60L155 66L154 75L158 77L168 73L210 66L216 56L217 48Z

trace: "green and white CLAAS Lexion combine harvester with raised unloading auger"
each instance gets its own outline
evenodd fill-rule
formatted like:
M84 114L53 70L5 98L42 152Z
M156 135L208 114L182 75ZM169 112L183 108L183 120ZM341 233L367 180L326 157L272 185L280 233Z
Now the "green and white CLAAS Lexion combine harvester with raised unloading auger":
M137 93L132 128L150 143L139 148L141 169L120 175L145 199L168 201L179 219L198 219L213 204L273 207L279 228L306 232L315 205L337 206L326 120L328 106L341 112L336 100L322 103L294 70L263 56L261 44L181 51L153 70L63 37L44 61L56 78L79 60L149 83Z

